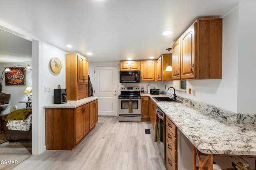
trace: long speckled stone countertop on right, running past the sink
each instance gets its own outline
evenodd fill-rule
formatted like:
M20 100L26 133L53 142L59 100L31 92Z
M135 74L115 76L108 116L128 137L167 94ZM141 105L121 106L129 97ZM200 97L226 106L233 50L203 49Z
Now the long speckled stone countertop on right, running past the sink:
M200 152L256 156L255 124L233 123L186 103L154 102Z

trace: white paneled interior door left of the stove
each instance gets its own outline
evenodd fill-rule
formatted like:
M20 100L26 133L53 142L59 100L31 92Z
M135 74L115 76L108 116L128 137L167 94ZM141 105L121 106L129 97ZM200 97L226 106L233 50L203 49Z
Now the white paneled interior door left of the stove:
M95 97L98 99L98 115L117 116L117 67L94 67Z

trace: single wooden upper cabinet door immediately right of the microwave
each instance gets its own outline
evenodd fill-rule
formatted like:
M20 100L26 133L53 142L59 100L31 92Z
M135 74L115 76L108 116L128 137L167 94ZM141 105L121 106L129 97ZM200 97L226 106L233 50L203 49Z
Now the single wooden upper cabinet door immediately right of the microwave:
M155 80L155 61L141 61L141 81Z

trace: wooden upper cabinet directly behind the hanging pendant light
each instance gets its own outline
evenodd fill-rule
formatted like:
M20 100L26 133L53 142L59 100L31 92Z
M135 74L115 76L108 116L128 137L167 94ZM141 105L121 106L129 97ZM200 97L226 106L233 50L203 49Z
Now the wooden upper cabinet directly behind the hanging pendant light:
M162 54L156 61L155 81L172 80L172 71L165 71L168 64L169 64L169 55ZM172 65L172 54L170 54L170 65Z

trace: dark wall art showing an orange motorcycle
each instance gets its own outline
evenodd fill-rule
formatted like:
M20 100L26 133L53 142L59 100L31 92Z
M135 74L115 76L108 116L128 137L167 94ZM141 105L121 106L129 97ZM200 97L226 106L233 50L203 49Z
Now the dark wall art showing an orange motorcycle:
M12 71L5 73L5 85L26 85L26 67L9 67Z

